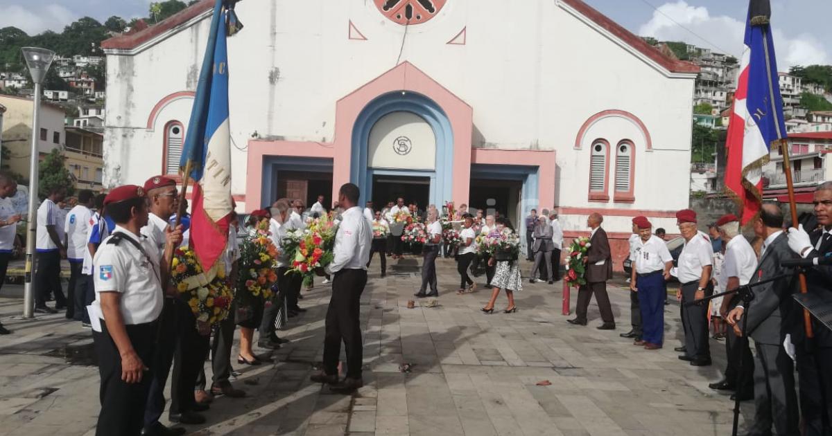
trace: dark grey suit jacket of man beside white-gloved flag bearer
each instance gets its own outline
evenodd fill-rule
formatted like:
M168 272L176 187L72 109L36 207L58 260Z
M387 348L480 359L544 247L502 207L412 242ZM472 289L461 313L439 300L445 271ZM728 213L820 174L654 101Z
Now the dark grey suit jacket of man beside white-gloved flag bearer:
M789 248L789 237L785 232L781 233L769 247L765 248L750 283L761 282L784 273L792 274L793 269L780 267L780 261L794 257L795 253ZM769 345L783 343L787 333L786 326L790 310L793 306L791 293L794 283L790 276L752 288L754 300L751 301L749 307L746 307L748 314L746 331L750 333L755 342Z

